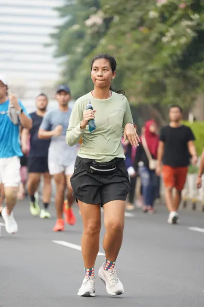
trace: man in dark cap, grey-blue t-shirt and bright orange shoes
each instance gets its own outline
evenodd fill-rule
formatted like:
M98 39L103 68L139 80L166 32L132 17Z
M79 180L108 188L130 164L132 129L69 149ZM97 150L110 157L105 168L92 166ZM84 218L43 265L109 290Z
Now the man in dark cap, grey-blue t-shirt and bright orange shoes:
M68 188L68 207L65 210L65 221L69 225L75 224L75 216L71 209L74 198L72 196L70 177L74 170L77 147L67 147L65 142L66 129L71 115L71 108L68 107L71 94L66 84L58 86L56 99L59 103L59 108L45 114L39 129L38 137L40 139L51 138L48 152L48 168L56 184L55 203L57 211L57 222L53 230L63 231L63 204L66 187Z

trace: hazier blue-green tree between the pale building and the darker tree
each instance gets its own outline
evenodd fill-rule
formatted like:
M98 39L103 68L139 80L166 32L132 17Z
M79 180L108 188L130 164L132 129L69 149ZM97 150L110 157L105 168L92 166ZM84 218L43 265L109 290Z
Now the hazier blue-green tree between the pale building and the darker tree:
M107 32L112 17L104 17L99 0L67 0L56 10L64 21L57 33L50 35L57 46L55 56L64 57L62 79L70 84L74 97L79 97L91 83L89 71L81 69L82 62Z

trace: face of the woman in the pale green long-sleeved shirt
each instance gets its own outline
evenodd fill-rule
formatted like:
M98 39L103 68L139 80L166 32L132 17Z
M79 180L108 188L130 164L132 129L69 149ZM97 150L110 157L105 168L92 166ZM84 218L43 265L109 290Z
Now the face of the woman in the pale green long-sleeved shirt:
M101 89L110 87L116 72L112 72L109 60L101 58L93 62L91 78L95 86Z

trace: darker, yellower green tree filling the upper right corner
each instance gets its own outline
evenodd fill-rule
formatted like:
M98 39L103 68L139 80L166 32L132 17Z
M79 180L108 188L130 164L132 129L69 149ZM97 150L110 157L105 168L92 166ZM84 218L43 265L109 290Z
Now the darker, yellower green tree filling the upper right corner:
M203 91L201 0L102 3L105 16L114 18L94 53L108 50L115 54L119 87L126 90L130 101L179 103L189 108L197 93Z

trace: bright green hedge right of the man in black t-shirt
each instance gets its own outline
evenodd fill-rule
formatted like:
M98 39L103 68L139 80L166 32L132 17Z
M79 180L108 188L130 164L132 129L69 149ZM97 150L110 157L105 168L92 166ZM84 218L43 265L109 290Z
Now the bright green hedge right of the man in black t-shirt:
M204 122L195 121L190 123L189 121L183 121L183 124L189 126L195 136L195 147L197 155L200 156L204 146Z

